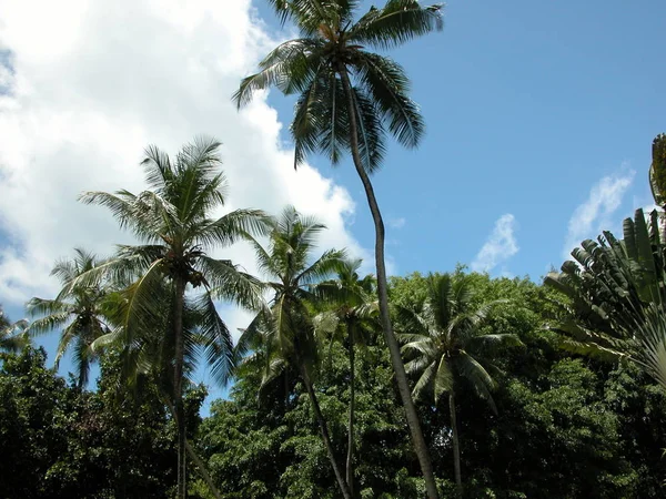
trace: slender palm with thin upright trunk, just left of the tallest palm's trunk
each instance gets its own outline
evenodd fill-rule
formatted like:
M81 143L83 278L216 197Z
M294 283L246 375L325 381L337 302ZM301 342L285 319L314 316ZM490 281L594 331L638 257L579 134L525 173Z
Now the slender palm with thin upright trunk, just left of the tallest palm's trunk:
M335 281L326 281L317 286L317 292L333 308L315 316L315 332L327 336L332 343L344 343L346 336L350 358L350 409L347 422L346 482L354 496L354 413L355 391L355 346L364 345L376 326L377 304L374 299L375 279L372 275L361 278L361 259L344 259L337 269ZM325 339L325 338L324 338Z

